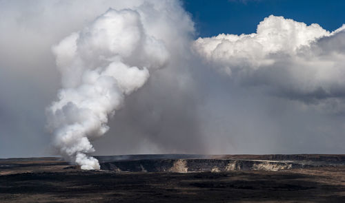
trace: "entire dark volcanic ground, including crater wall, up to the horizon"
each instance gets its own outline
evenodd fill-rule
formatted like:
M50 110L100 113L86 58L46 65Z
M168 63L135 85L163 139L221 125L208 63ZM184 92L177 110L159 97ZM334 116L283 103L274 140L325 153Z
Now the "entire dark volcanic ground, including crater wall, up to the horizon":
M99 156L0 159L0 202L345 202L345 156Z

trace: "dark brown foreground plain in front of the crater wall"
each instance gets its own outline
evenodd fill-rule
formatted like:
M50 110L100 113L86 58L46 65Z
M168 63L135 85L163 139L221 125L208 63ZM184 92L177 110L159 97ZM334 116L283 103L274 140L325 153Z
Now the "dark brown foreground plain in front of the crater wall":
M57 158L0 160L0 202L345 202L345 167L116 173Z

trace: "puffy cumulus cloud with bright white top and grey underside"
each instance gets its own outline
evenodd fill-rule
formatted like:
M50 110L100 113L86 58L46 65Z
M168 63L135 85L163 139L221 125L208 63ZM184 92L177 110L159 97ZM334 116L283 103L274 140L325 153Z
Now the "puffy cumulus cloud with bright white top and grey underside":
M199 38L193 48L239 83L311 103L344 96L344 28L328 32L271 15L256 33Z

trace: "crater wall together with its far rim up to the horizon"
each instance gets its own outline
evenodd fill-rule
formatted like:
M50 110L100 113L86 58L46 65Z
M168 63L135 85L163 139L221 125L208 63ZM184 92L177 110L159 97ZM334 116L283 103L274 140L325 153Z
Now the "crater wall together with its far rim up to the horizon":
M97 157L101 169L128 172L220 172L279 171L345 165L345 156L336 155L237 155L237 156L106 156Z

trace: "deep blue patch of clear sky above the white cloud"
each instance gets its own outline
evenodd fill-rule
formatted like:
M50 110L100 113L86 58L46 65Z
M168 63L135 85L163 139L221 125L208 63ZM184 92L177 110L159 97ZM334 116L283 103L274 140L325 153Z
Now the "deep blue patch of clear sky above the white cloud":
M184 0L201 37L219 33L253 33L270 14L308 25L318 23L326 30L339 28L345 19L345 1L294 0Z

